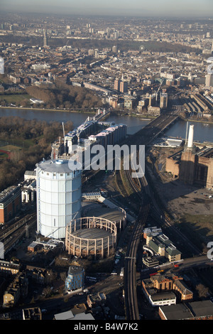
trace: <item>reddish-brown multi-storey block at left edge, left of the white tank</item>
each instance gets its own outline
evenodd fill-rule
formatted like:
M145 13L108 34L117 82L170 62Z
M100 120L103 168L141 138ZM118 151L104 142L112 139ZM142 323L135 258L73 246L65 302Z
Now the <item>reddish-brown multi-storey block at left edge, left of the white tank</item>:
M21 188L12 185L0 193L0 224L8 222L21 210Z

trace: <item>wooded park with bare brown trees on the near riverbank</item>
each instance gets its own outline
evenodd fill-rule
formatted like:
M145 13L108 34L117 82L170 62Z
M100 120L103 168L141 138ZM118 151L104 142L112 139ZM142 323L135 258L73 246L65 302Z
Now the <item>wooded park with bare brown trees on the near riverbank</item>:
M72 122L65 123L65 131ZM50 156L51 143L62 135L60 122L43 122L21 117L0 117L0 191L33 170ZM8 153L9 152L9 153Z

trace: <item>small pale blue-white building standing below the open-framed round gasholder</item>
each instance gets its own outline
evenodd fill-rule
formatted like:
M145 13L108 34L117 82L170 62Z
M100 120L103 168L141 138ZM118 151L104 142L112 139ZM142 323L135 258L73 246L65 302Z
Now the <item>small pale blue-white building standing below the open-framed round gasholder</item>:
M65 280L65 288L68 292L83 289L84 287L84 268L82 266L70 266L67 278Z

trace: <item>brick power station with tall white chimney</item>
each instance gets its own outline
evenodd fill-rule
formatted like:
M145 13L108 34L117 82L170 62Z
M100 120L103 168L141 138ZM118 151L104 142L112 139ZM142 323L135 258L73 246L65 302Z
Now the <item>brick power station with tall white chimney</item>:
M182 183L213 188L213 148L201 149L193 143L194 125L190 125L185 148L166 158L165 171Z

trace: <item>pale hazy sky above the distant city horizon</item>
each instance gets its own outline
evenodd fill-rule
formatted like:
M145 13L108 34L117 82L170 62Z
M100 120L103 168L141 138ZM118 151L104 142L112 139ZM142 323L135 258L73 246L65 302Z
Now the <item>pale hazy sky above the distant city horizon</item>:
M45 14L212 16L212 0L0 0L1 11Z

